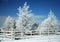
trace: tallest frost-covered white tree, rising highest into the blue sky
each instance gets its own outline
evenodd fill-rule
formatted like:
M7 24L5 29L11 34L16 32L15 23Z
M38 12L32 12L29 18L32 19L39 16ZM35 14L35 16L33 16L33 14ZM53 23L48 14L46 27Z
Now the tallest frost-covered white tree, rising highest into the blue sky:
M26 32L31 28L31 10L29 11L29 6L27 2L24 3L23 7L18 8L18 19L16 21L16 29L19 29L21 32Z

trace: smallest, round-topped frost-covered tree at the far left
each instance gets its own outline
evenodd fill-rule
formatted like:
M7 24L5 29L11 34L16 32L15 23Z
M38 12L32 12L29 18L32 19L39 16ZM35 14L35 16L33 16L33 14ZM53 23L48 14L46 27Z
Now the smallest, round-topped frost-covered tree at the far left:
M6 18L4 24L3 24L3 28L4 28L5 30L11 30L11 29L14 28L14 23L15 23L15 21L14 21L13 17L8 16L8 17Z

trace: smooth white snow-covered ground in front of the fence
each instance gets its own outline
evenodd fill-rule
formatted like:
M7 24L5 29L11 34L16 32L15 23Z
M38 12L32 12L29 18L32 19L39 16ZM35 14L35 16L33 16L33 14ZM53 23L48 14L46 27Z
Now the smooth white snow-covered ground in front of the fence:
M31 36L31 38L21 40L4 40L1 42L60 42L60 35Z

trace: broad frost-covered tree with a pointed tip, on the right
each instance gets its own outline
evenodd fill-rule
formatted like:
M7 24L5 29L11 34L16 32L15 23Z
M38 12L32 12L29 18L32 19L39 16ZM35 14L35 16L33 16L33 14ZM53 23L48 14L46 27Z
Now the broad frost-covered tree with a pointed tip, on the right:
M55 32L58 28L58 20L54 13L50 10L48 18L41 23L40 31L42 32Z

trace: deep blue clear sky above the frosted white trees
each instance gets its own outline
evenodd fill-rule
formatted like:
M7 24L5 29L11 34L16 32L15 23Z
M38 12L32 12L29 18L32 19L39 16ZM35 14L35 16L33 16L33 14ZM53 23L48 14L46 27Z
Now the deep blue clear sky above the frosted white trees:
M47 16L51 9L60 19L60 0L0 0L0 16L17 16L17 8L25 2L35 15Z

